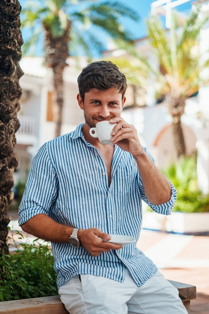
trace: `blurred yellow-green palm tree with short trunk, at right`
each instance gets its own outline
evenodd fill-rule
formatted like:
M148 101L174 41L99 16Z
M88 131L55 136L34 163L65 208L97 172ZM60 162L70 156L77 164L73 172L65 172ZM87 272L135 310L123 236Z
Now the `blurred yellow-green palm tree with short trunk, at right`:
M209 59L201 62L199 52L199 33L205 20L200 19L199 9L192 11L181 28L178 28L177 16L172 14L170 39L156 17L148 22L148 39L153 47L160 71L156 75L158 91L164 97L164 104L172 116L172 129L176 155L185 155L184 136L181 127L181 116L184 113L185 100L198 91L203 81L200 72L209 66ZM204 58L205 59L205 58Z

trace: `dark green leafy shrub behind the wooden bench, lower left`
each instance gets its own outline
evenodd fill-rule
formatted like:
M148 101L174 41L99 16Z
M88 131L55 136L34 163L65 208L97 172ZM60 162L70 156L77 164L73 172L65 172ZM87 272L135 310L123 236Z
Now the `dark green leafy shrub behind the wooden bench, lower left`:
M49 243L42 245L36 239L17 246L14 235L23 240L19 232L13 232L9 239L13 239L14 252L0 258L0 301L57 295Z

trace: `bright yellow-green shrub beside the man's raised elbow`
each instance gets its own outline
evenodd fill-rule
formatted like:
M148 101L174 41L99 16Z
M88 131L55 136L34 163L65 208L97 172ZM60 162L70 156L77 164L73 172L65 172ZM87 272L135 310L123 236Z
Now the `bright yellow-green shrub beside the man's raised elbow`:
M195 158L181 158L175 165L169 166L162 172L174 184L177 191L173 211L209 212L209 194L202 194L197 187Z

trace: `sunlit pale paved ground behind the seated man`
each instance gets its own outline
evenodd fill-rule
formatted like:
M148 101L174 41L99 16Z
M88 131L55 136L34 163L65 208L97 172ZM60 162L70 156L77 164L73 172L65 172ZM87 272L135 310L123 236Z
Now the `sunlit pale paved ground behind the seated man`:
M12 219L17 215L11 213ZM12 229L18 229L11 222ZM137 246L170 280L195 285L190 314L209 314L209 236L167 234L142 230Z

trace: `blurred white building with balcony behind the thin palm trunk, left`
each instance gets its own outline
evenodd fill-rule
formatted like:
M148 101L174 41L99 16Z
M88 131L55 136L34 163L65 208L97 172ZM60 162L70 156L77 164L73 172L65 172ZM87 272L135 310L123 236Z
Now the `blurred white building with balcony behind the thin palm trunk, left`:
M73 60L69 59L69 62ZM82 61L82 60L81 60ZM83 61L82 61L83 62ZM81 63L83 67L85 63ZM24 75L19 84L22 88L18 119L20 128L16 132L15 151L19 165L14 175L15 182L24 181L31 159L38 148L54 137L52 72L43 66L43 59L24 57L20 60ZM61 133L67 133L84 121L76 100L77 76L80 69L70 64L64 71L64 105Z

